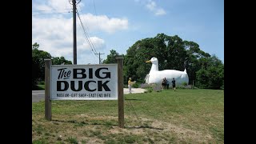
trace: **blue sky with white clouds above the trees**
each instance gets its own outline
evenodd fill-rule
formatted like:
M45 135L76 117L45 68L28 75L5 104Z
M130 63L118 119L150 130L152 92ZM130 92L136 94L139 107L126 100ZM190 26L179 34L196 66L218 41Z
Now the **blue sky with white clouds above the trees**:
M71 0L72 1L72 0ZM223 0L81 0L76 17L77 64L98 64L110 50L126 54L138 40L178 35L224 63ZM32 44L73 62L69 0L32 0Z

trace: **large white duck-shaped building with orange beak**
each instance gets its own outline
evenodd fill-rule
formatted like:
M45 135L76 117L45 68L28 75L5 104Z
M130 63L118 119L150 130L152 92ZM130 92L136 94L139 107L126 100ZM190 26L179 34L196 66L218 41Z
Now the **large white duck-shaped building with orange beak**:
M158 70L158 58L151 58L149 61L146 62L151 62L151 70L150 74L146 75L146 83L158 83L161 84L162 78L166 78L167 81L170 82L175 79L176 86L182 85L184 82L186 84L189 83L189 76L186 74L186 69L184 71L179 71L179 70Z

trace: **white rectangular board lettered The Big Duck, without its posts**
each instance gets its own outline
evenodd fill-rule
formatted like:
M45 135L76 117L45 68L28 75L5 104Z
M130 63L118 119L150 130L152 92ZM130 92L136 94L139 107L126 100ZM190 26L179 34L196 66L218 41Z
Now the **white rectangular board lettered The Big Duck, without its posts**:
M50 99L117 100L118 64L51 65Z

